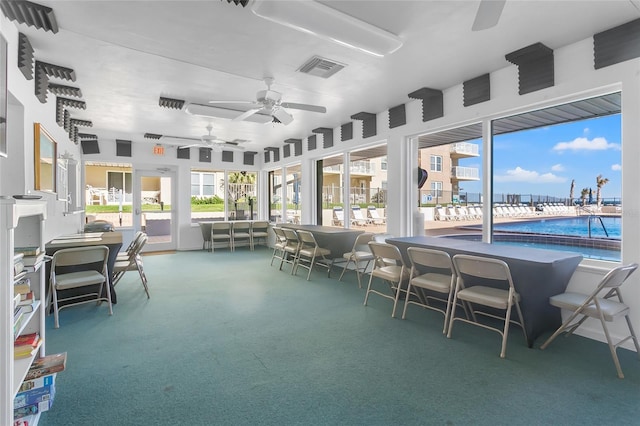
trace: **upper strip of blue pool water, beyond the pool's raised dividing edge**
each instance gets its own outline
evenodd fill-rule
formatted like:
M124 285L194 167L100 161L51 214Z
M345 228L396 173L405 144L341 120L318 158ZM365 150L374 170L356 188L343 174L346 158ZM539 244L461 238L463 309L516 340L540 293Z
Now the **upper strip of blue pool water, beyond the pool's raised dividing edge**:
M592 238L607 238L604 228L607 230L608 238L620 239L622 229L621 217L601 217L588 216L571 218L540 219L526 222L498 223L493 225L497 231L523 232L531 234L547 235L571 235L575 237L589 236L589 222L591 222Z

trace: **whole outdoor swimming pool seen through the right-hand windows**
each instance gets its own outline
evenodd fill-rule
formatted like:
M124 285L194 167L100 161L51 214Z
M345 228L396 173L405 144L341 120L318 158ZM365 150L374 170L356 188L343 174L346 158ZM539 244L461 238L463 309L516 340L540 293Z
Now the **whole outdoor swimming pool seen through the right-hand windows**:
M591 237L589 237L591 221ZM608 237L603 229L607 230ZM620 217L602 217L600 220L587 216L571 218L545 218L538 220L494 224L494 244L518 245L548 250L573 251L585 258L619 262ZM481 229L481 225L467 229ZM480 241L478 235L456 235L454 238Z

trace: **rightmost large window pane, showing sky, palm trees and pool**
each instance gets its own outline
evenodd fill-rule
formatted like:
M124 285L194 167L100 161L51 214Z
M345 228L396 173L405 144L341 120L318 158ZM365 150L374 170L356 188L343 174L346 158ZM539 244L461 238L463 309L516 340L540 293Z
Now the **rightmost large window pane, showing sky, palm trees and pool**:
M620 105L620 93L613 93L494 122L492 239L496 244L620 261ZM556 117L565 119L540 125ZM514 123L529 126L504 131Z

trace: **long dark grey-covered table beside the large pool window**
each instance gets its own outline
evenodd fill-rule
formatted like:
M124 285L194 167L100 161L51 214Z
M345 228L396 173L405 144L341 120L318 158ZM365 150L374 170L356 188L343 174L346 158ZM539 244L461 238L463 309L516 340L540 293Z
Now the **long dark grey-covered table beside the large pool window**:
M546 331L557 329L562 323L560 309L549 304L549 297L563 293L580 262L582 255L566 251L534 249L510 245L496 245L445 237L389 238L397 246L407 265L407 248L424 247L442 250L450 256L470 254L500 259L509 265L516 291L520 293L522 315L529 347ZM497 286L498 283L483 283Z

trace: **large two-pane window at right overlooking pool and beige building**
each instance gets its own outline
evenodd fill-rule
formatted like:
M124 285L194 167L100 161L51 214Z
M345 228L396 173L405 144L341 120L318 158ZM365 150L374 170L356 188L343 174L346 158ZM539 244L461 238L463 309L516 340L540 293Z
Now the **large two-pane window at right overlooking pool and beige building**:
M620 261L622 126L619 92L494 120L492 176L482 176L481 123L419 138L425 233ZM438 171L438 158L442 170ZM483 179L492 179L483 196ZM487 205L487 203L490 203Z

